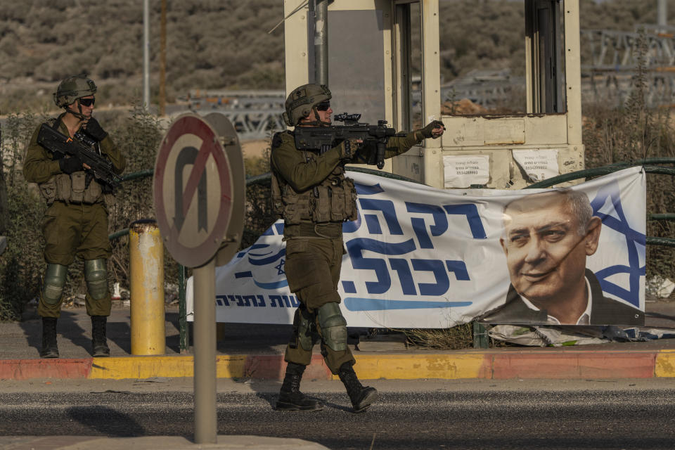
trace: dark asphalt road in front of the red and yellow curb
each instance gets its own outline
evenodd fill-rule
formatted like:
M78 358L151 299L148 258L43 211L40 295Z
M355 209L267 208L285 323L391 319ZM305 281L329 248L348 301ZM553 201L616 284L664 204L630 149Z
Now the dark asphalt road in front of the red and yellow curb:
M191 383L0 381L0 448L11 435L189 437ZM366 413L349 412L338 381L303 383L326 401L323 411L282 413L271 406L278 383L219 380L218 432L298 437L330 449L675 448L671 380L370 384L381 399Z

